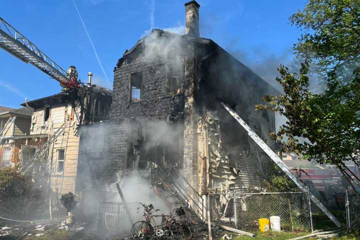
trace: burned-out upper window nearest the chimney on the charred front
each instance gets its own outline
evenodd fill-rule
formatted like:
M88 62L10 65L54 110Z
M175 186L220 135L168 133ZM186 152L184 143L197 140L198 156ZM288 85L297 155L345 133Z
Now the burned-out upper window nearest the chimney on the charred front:
M182 72L179 64L166 65L166 92L179 94L182 90Z

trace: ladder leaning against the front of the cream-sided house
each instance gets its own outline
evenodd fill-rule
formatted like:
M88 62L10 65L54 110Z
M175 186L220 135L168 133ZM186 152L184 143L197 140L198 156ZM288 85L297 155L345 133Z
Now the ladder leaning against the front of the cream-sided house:
M26 174L29 169L39 160L41 157L43 157L46 153L48 153L48 149L50 145L56 140L56 138L65 130L66 127L66 121L62 123L62 125L57 128L57 130L50 136L50 138L45 141L45 143L35 152L35 154L31 157L31 159L26 162L23 166L20 168L20 172L23 174Z

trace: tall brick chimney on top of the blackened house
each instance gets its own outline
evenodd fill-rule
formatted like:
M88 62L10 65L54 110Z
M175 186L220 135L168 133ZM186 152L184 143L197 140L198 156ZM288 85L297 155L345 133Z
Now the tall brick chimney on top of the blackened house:
M199 29L199 7L195 0L185 3L185 22L186 22L186 35L192 37L200 37Z

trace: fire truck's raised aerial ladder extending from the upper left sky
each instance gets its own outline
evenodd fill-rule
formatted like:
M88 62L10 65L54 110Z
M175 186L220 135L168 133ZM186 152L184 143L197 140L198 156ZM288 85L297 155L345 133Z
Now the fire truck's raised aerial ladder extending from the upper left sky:
M31 63L61 85L78 87L66 77L66 71L43 53L35 44L0 17L0 47L10 54Z

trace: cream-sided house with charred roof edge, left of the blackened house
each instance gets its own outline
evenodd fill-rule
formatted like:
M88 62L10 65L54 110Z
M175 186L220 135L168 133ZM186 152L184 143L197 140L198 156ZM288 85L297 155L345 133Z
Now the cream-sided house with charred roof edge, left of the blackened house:
M80 139L78 127L108 119L110 104L111 91L93 84L22 103L34 109L30 136L45 135L48 140L33 153L29 164L20 166L21 171L50 179L51 189L57 194L73 192Z

